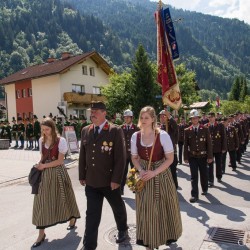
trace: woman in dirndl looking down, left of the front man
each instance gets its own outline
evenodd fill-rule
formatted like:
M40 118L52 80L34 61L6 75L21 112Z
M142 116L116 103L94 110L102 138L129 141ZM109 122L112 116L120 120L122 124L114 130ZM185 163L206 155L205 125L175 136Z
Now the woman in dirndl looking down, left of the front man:
M67 229L71 230L80 218L71 180L63 164L67 142L58 136L55 123L49 117L42 121L41 132L41 161L37 169L42 175L38 194L34 197L32 218L39 235L32 247L38 247L44 241L45 228L69 221Z

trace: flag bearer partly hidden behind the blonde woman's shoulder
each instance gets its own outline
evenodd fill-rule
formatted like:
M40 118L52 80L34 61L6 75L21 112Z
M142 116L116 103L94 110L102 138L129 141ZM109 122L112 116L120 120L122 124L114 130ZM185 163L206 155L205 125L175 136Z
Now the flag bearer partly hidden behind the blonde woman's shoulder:
M173 147L174 147L174 161L169 167L172 173L175 187L177 189L178 188L178 179L177 179L178 158L177 158L176 144L178 143L178 125L176 121L174 120L174 118L171 116L170 112L167 110L167 108L165 110L162 110L159 113L159 116L160 116L160 123L161 123L160 128L168 132L171 138L171 141L173 143ZM166 129L166 122L168 124L167 129Z

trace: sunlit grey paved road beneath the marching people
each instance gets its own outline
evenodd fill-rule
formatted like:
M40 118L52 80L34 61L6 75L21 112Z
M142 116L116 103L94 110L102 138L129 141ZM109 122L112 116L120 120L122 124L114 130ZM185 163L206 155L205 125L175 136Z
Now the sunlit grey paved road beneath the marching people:
M250 147L244 155L242 165L238 171L226 169L222 183L215 183L209 189L209 194L200 196L198 203L190 204L190 171L187 165L178 166L179 200L183 222L183 235L177 244L163 249L249 249L248 247L232 244L216 244L204 241L213 227L237 229L246 231L250 243ZM74 157L72 157L74 158ZM33 196L31 187L27 183L27 176L31 166L39 159L36 151L0 150L0 249L26 250L37 237L37 231L31 224ZM68 159L67 163L74 162ZM79 250L82 247L84 233L86 199L84 187L78 183L77 164L69 165L69 175L76 194L77 203L82 218L77 228L71 232L66 230L67 225L57 225L46 230L45 243L39 250ZM24 177L19 179L20 177ZM16 179L15 181L12 181ZM135 224L134 194L125 190L124 201L128 213L128 223L131 224L130 233L133 236ZM115 222L107 202L104 203L102 221L99 229L97 250L141 250L142 247L128 244L112 245ZM247 233L248 232L248 233Z

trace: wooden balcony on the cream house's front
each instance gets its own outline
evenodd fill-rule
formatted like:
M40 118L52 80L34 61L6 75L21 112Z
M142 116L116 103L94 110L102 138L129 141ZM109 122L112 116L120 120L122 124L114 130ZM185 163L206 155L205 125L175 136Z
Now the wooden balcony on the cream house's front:
M92 101L105 102L106 98L101 94L87 94L84 92L65 92L63 94L64 101L68 104L90 104Z

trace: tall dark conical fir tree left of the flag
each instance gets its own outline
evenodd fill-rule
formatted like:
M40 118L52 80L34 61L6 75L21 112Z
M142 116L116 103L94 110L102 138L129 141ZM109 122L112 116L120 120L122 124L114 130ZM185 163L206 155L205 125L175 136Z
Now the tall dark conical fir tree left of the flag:
M141 44L136 51L131 73L134 86L132 108L137 118L143 107L147 105L157 107L157 85L153 66Z

